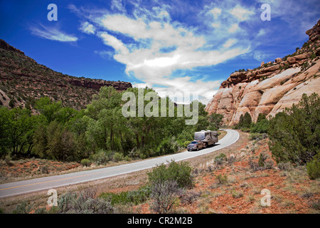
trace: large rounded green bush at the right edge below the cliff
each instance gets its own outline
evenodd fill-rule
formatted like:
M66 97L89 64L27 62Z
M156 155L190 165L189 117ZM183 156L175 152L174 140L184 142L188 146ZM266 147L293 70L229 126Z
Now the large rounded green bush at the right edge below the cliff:
M292 105L270 120L270 149L277 162L304 165L320 151L320 98L304 94L298 105Z

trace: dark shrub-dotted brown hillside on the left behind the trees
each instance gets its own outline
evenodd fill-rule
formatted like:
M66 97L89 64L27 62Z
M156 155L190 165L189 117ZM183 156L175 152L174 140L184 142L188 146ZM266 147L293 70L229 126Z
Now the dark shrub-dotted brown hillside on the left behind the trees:
M0 39L0 105L32 109L35 100L49 96L52 100L61 100L64 106L80 110L102 86L122 91L132 84L77 78L53 71Z

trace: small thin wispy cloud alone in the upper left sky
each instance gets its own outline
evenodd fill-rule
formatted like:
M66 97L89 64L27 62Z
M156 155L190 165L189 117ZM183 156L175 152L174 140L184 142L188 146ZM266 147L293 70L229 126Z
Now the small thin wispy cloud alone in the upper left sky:
M60 31L58 28L39 25L39 26L31 26L30 29L33 35L40 36L41 38L47 38L52 41L60 41L60 42L78 41L78 38L76 36L64 33L63 31Z

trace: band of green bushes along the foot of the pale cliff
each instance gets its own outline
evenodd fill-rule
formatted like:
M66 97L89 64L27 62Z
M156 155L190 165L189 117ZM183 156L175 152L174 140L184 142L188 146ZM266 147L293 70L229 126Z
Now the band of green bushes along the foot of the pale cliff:
M240 116L235 129L250 133L251 140L269 138L272 157L279 163L306 165L309 177L320 177L320 98L313 93L302 95L292 108L267 120L259 114L253 123L249 113Z

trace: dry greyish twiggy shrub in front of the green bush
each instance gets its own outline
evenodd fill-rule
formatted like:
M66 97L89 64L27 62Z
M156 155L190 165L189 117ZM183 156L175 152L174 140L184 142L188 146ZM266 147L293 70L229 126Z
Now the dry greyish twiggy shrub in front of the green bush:
M158 182L151 189L150 209L159 214L174 212L176 201L182 194L183 190L175 180Z

